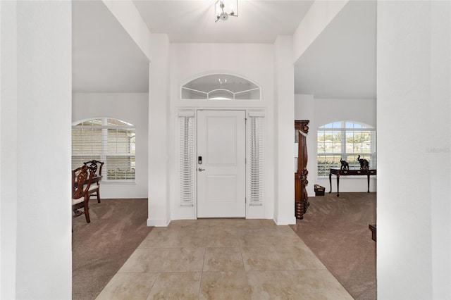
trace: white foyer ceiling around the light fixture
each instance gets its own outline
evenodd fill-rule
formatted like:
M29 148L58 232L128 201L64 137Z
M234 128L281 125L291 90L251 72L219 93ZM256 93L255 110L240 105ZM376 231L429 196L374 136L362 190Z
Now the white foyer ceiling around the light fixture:
M215 1L133 3L150 32L166 33L171 42L271 44L277 35L292 35L313 3L239 0L238 17L215 23Z

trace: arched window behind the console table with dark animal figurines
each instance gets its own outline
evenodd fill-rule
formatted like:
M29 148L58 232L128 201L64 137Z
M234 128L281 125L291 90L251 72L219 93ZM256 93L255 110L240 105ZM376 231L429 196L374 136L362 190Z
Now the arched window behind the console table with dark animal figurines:
M318 176L329 175L331 168L340 168L340 159L350 169L359 169L358 156L376 169L376 129L352 121L328 123L318 128Z

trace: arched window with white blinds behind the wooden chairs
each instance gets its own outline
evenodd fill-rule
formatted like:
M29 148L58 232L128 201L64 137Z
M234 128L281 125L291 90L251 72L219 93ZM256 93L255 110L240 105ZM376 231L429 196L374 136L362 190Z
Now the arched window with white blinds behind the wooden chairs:
M72 168L103 161L102 181L135 181L135 126L113 118L95 118L72 126Z

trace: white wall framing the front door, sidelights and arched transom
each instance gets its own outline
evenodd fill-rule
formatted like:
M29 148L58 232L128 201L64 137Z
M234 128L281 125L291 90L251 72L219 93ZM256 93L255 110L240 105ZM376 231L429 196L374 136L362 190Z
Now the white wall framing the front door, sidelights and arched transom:
M188 213L178 211L177 165L175 162L175 117L177 108L264 108L266 110L266 184L264 212L261 218L273 218L274 192L274 49L272 44L171 44L170 57L170 130L171 218ZM186 101L180 100L180 85L199 75L230 73L257 82L262 87L261 101ZM193 208L194 209L194 208ZM293 206L294 215L294 206ZM194 212L191 213L194 218Z

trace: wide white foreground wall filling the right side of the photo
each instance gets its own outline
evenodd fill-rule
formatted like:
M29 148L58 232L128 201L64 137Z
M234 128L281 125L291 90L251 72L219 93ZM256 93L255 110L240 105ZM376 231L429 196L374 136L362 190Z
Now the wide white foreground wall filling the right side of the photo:
M378 298L451 299L451 3L377 18Z

